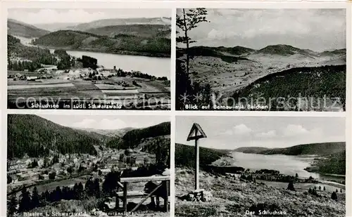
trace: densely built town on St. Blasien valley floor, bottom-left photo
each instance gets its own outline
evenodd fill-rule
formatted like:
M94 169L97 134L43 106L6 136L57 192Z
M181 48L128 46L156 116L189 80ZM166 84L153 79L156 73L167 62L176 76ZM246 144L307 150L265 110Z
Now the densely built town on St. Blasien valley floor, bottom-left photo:
M23 186L37 186L39 191L55 189L61 181L62 185L73 185L77 178L103 178L111 171L136 170L139 166L155 163L155 155L138 150L105 150L98 153L97 156L54 154L51 157L9 160L8 194L19 192ZM55 185L51 186L51 183Z

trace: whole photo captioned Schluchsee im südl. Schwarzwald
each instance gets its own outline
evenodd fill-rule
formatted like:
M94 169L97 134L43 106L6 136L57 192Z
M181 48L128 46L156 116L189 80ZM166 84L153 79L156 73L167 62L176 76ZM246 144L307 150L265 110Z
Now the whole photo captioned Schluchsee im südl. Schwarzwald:
M9 8L8 109L170 110L171 14Z

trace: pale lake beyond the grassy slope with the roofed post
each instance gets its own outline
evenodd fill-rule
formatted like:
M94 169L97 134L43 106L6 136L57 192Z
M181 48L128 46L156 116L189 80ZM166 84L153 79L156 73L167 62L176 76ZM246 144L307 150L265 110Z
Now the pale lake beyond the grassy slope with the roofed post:
M301 178L317 178L319 180L345 180L344 177L327 176L320 173L310 173L304 169L310 166L314 157L297 157L282 154L245 154L241 152L232 152L234 166L241 166L252 171L260 169L273 169L287 176L295 176L296 173Z

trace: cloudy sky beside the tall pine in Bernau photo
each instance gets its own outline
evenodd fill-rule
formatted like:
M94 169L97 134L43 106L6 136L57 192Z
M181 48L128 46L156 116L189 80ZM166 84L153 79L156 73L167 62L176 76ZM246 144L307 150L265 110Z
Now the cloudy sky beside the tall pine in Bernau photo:
M206 18L189 32L192 46L346 48L346 9L208 9Z

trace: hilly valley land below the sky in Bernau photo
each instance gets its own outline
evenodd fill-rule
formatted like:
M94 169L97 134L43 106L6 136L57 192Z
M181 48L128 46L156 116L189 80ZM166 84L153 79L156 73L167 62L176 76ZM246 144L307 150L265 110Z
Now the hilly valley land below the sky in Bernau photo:
M186 50L178 48L178 52L185 65ZM259 50L193 46L188 53L189 78L194 85L210 85L222 105L231 106L234 99L234 105L254 102L268 105L269 110L345 109L346 49L318 53L284 44ZM290 97L296 100L289 102ZM278 98L285 100L276 102Z

